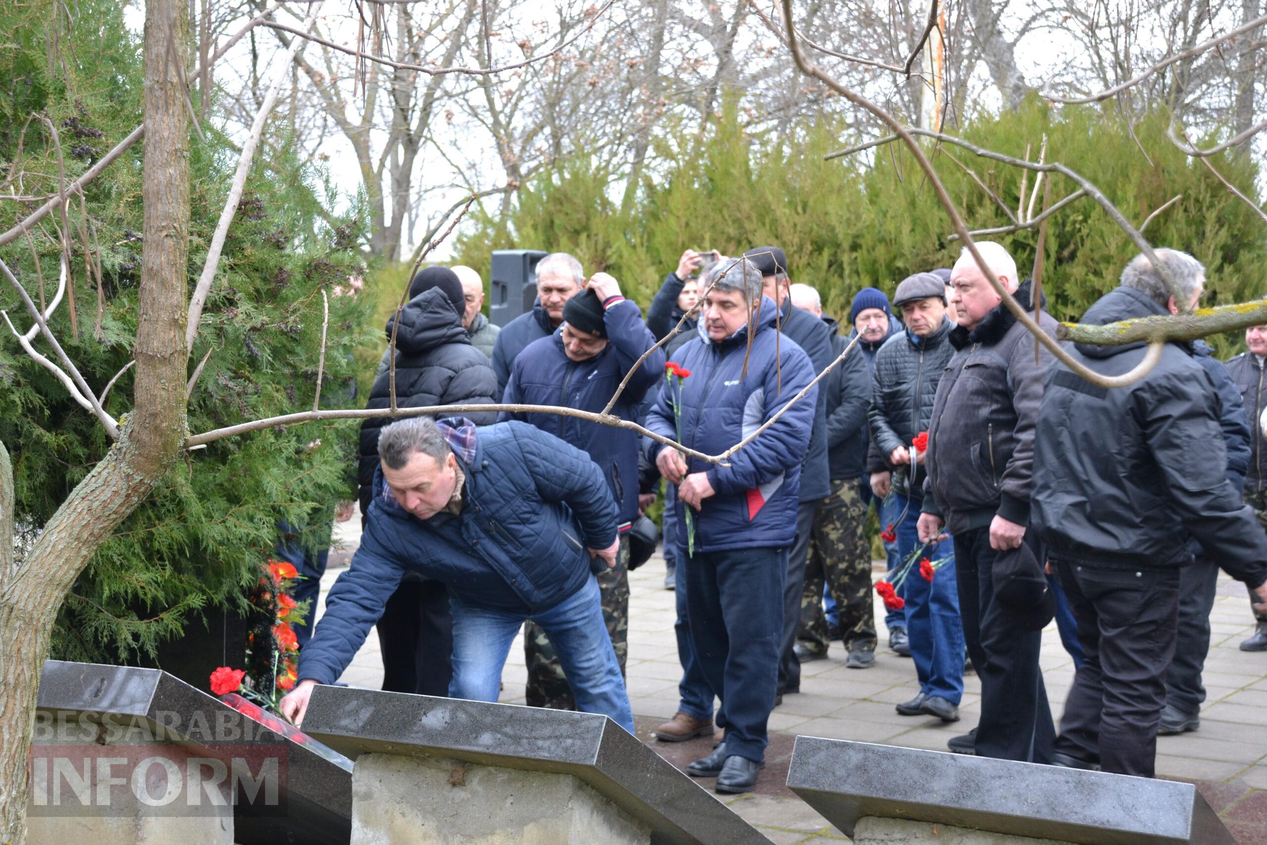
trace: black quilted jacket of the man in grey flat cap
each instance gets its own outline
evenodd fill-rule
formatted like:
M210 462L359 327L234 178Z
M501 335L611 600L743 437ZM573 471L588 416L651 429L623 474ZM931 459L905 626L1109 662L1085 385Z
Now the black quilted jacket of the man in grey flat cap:
M950 346L952 328L954 323L943 319L941 327L929 337L917 337L903 329L884 341L884 346L875 353L872 404L867 412L872 433L867 454L868 473L895 469L888 462L893 450L898 446L910 448L915 436L929 429L938 383L954 355L954 347ZM893 486L903 495L922 498L924 467L916 465L901 469L902 473L893 476Z

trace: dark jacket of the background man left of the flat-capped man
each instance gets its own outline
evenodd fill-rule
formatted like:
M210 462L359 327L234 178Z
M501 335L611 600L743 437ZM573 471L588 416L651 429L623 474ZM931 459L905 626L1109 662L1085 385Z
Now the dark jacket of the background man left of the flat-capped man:
M822 322L831 332L832 359L840 357L849 341L840 334L836 321L824 317ZM832 481L856 479L867 460L870 365L860 346L862 341L855 343L845 360L818 383L818 389L827 394L827 464Z

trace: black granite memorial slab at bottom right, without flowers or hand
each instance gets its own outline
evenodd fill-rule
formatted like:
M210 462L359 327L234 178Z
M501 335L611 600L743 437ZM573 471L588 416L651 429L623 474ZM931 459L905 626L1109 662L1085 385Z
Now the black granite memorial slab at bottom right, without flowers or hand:
M1190 783L798 736L788 788L853 835L864 816L1087 845L1233 845Z

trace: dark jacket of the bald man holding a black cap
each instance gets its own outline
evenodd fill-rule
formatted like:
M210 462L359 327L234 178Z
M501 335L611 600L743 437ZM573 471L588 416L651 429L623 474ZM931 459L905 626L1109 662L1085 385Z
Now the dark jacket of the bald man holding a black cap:
M1025 281L1016 300L1029 303ZM1047 296L1043 298L1047 304ZM1039 326L1055 336L1045 310ZM997 513L1029 524L1034 470L1034 423L1043 402L1043 376L1052 353L1000 303L971 332L950 331L957 350L938 385L924 459L924 511L945 519L946 531L983 528Z

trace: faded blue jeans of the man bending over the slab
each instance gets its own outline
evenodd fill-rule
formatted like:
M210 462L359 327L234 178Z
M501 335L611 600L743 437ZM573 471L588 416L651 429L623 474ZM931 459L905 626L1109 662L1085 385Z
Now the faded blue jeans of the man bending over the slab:
M587 713L602 713L634 734L634 713L616 649L607 635L598 579L549 611L527 617L464 603L450 594L454 616L454 679L450 698L495 702L502 684L502 669L514 635L531 618L545 630L559 654L576 707Z

